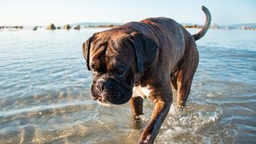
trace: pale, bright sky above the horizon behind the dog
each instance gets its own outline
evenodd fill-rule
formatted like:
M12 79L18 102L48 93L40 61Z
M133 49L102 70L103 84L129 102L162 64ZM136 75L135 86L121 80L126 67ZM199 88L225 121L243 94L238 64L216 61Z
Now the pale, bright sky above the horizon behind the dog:
M152 17L203 24L201 4L210 10L212 23L256 22L256 0L0 0L0 26L125 23Z

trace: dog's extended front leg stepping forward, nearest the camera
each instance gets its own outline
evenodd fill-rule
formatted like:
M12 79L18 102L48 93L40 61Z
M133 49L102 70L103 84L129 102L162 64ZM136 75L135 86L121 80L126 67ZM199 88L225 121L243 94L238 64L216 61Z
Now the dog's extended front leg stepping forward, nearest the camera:
M158 135L162 122L170 110L172 96L166 96L168 100L158 100L154 106L154 113L150 119L150 124L143 130L139 144L154 143L154 138Z

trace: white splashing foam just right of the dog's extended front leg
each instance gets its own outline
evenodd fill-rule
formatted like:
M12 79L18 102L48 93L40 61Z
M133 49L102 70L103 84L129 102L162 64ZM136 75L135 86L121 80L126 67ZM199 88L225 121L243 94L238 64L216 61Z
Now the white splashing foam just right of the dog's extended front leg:
M198 108L202 108L202 110L197 110ZM182 134L196 135L203 126L217 122L222 113L222 108L218 106L215 110L208 110L207 107L193 104L193 106L187 106L184 110L180 110L172 105L166 118L167 126L166 124L162 126L161 139L182 137Z

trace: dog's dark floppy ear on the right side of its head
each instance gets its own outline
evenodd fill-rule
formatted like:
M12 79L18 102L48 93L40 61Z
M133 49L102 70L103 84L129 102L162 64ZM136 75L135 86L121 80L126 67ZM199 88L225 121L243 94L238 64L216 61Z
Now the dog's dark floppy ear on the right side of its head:
M150 66L157 55L158 45L153 39L144 34L131 34L130 42L134 45L138 73L142 73L146 66Z

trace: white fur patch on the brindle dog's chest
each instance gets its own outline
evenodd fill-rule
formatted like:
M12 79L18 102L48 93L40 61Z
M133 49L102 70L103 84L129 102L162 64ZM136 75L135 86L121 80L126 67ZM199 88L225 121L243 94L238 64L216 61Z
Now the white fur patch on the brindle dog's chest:
M134 86L133 97L147 98L147 97L149 97L151 92L152 92L152 89L150 89L149 86L145 86L145 87Z

